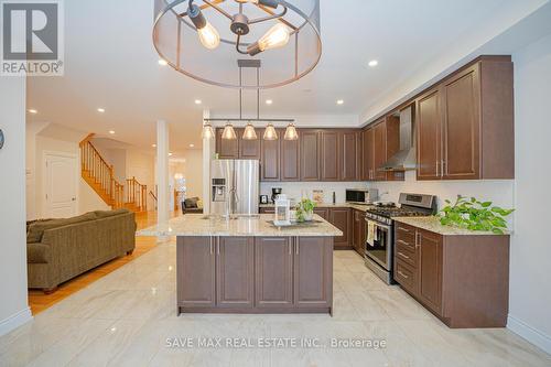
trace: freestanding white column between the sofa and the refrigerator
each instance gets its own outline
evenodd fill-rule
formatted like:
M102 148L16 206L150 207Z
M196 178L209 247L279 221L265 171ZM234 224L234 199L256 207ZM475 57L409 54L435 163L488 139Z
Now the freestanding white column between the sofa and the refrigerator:
M169 206L169 123L156 121L156 185L158 185L158 223L170 218Z

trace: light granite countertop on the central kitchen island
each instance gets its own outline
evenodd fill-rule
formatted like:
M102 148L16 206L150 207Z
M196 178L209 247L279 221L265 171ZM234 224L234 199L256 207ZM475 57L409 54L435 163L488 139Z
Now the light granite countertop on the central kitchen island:
M203 214L186 214L168 223L144 228L137 236L255 236L255 237L336 237L343 233L318 215L314 215L314 224L276 227L268 223L272 214L260 214L256 217L225 219Z

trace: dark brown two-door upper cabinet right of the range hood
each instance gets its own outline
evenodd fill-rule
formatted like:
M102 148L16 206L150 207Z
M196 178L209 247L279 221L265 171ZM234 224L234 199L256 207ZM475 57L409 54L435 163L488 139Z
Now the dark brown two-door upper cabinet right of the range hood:
M415 104L418 180L515 177L510 56L482 56Z

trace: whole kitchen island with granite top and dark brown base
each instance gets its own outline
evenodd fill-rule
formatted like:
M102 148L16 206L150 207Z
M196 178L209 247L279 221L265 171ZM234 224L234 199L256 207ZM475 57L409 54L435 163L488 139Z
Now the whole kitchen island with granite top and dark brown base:
M137 235L176 236L179 314L331 314L333 241L343 233L317 215L291 227L271 219L186 214Z

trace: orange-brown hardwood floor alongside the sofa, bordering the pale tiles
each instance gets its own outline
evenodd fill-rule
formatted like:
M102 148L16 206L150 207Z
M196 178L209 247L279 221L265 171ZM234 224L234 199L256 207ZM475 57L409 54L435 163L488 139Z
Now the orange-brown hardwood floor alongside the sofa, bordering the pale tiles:
M172 216L180 215L179 212L172 213ZM136 223L138 229L152 226L156 223L156 212L144 212L136 214ZM143 253L155 247L156 238L154 237L136 237L136 249L132 255L123 256L106 262L97 268L94 268L65 283L60 284L58 289L50 294L44 294L42 290L29 290L29 306L32 314L35 315L47 307L51 307L61 300L78 292L96 280L109 274L128 262L136 260Z

